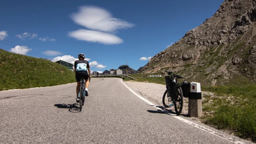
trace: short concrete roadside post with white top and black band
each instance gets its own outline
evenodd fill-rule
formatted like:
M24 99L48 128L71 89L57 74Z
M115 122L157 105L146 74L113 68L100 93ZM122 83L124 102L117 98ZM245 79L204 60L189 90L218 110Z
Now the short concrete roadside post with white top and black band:
M192 82L190 83L190 94L188 96L188 115L189 117L200 117L202 113L201 85Z

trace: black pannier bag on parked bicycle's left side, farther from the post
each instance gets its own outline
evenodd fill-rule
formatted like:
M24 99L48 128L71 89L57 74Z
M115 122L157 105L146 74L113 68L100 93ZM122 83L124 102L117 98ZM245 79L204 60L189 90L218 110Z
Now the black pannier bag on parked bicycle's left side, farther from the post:
M175 97L177 94L177 83L173 76L165 76L165 84L169 97Z

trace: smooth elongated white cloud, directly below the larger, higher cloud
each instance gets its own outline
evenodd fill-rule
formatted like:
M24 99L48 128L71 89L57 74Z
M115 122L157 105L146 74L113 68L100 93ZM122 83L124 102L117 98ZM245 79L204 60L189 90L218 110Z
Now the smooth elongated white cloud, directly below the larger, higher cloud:
M103 44L123 43L123 40L115 35L99 32L99 31L85 30L85 29L69 32L69 36L76 38L77 40L84 40L88 42L99 42Z

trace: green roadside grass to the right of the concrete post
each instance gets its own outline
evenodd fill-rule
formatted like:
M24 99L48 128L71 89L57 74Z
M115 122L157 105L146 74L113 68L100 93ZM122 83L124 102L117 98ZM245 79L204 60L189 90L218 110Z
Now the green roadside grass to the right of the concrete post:
M213 115L202 117L205 122L218 129L228 129L241 138L256 141L256 85L246 86L202 86L203 91L217 94L206 97L203 111L215 111ZM231 101L233 101L231 103Z

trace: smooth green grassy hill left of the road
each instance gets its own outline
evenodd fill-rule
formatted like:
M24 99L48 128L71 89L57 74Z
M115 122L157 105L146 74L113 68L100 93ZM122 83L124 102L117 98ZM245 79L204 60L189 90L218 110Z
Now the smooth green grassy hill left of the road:
M75 73L65 66L0 49L0 91L73 82Z

